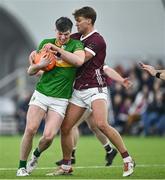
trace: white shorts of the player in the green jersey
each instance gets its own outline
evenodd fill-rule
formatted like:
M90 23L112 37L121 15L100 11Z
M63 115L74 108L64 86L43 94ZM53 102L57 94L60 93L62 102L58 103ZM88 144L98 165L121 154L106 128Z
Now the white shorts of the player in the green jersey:
M62 117L64 117L66 108L68 106L68 99L46 96L35 90L30 99L29 105L39 106L45 111L56 111Z

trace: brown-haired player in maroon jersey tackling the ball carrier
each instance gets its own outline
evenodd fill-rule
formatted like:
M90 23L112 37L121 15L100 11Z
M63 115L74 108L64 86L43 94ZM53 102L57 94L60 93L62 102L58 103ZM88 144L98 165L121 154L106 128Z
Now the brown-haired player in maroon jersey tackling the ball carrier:
M72 127L86 109L91 109L93 122L116 146L123 158L123 176L129 176L133 173L135 163L129 155L120 134L107 122L108 92L106 78L103 73L106 43L94 28L96 12L91 7L83 7L76 10L73 15L78 33L72 37L84 43L85 63L78 68L72 98L61 127L63 164L49 175L70 174L73 171L71 166ZM54 50L56 51L58 48L54 47ZM59 49L59 53L60 51Z

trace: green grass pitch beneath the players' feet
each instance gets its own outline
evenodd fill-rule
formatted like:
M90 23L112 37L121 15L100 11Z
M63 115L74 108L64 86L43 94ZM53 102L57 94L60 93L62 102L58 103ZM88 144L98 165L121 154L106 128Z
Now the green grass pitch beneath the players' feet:
M35 137L34 147L38 139L38 136ZM0 136L0 179L25 179L15 175L20 141L20 136ZM124 137L124 142L137 164L129 179L165 179L165 138ZM47 177L45 174L52 171L54 162L61 158L60 139L57 137L42 154L38 169L26 179L126 179L122 178L120 155L117 155L111 167L104 167L104 156L105 151L94 136L81 137L73 175Z

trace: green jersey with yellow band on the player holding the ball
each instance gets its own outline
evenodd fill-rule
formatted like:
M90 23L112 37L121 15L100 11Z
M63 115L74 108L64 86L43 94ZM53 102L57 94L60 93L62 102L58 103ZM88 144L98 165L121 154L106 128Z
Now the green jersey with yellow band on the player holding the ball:
M56 39L43 40L38 50L42 49L47 43L56 44ZM83 44L74 39L70 39L61 48L72 53L84 49ZM76 67L59 59L52 70L43 73L36 85L36 90L46 96L69 99L72 94L75 76Z

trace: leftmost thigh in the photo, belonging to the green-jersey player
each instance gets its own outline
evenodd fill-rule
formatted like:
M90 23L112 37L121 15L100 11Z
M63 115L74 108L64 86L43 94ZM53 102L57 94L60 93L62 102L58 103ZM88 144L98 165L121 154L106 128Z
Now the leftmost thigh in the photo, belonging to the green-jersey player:
M27 112L26 128L38 129L42 119L45 116L45 110L36 105L30 105Z

